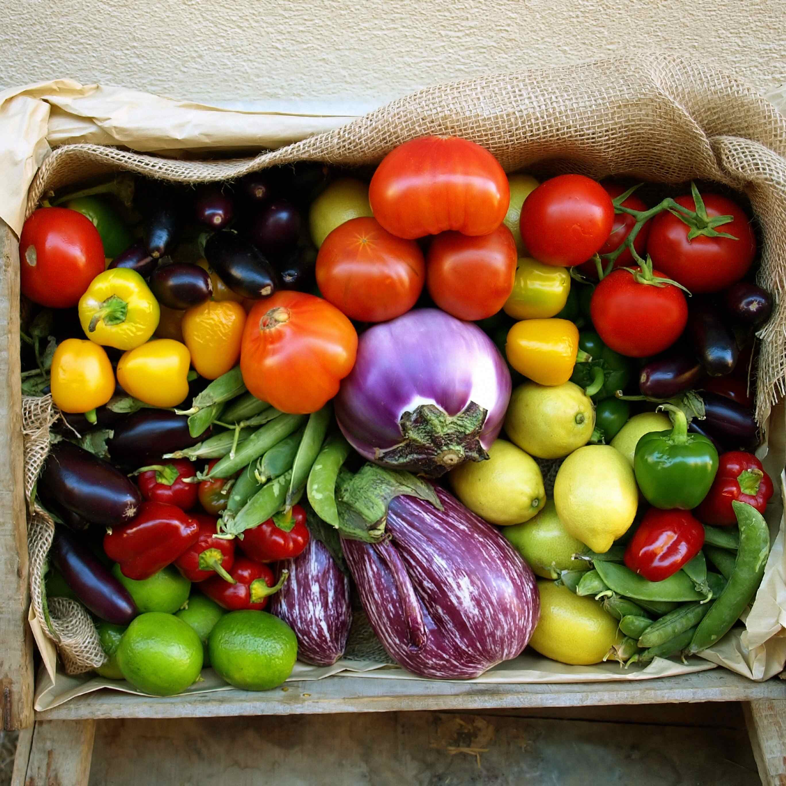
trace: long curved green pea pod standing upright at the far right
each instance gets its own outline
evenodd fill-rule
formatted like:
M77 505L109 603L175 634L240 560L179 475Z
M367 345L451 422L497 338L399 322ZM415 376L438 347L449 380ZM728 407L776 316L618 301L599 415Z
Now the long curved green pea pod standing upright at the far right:
M751 505L735 500L732 507L740 527L740 549L734 570L718 600L699 623L689 652L701 652L725 636L762 583L769 556L769 528L762 514Z

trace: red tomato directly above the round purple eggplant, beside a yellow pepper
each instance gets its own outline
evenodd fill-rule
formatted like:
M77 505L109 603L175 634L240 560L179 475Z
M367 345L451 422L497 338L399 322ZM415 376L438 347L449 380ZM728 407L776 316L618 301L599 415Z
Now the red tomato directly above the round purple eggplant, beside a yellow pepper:
M479 237L443 232L428 248L428 294L459 319L494 316L513 291L517 259L516 241L504 224Z

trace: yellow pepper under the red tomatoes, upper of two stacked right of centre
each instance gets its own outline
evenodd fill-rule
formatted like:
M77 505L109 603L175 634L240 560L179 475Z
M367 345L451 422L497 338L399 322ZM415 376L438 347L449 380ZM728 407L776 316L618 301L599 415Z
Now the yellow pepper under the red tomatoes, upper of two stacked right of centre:
M516 266L513 291L503 309L514 319L553 317L564 309L570 291L567 268L544 265L525 256Z

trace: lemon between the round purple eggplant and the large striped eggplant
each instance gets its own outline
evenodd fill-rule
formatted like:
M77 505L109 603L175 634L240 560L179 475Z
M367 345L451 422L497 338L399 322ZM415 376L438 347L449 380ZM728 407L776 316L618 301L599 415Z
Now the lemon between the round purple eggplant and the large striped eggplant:
M505 439L492 443L488 453L488 461L466 461L450 472L457 498L501 527L531 519L545 502L540 467Z

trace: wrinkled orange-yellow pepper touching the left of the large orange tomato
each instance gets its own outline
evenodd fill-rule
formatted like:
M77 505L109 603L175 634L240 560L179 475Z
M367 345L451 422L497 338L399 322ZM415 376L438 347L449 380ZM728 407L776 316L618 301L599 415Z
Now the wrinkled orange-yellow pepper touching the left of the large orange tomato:
M206 300L183 317L183 340L193 367L215 380L237 365L246 321L244 308L234 300Z

